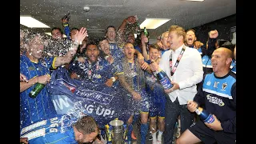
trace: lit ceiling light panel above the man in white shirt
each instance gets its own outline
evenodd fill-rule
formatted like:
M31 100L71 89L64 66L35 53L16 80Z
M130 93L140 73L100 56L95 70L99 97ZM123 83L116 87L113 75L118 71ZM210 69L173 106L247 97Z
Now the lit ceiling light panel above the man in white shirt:
M156 29L168 21L170 21L168 18L146 18L140 25L140 28L144 29L144 27L146 27L146 29Z

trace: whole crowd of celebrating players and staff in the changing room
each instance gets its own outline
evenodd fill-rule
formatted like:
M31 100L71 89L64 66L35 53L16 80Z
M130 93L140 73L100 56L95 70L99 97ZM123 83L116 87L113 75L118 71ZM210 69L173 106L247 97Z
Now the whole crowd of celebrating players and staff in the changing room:
M68 19L62 18L62 24L68 38L58 27L52 29L51 38L21 30L21 142L102 143L103 129L93 115L77 118L56 112L45 85L58 67L78 81L126 92L120 98L130 111L128 143L136 140L137 121L142 144L147 134L153 144L236 142L236 46L234 41L218 39L218 30L210 30L204 44L195 30L173 25L150 43L142 30L134 37L134 16L125 18L118 29L107 26L106 36L99 39L88 37L85 27L69 29ZM161 70L171 80L169 90L158 81ZM44 87L31 98L38 83ZM198 119L194 113L198 106L213 114L214 122Z

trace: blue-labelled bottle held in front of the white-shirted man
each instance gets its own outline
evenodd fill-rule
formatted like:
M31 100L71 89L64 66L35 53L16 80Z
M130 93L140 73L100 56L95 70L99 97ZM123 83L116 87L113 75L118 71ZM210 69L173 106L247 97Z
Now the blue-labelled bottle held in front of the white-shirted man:
M159 82L161 83L162 87L165 90L169 90L174 86L173 84L170 83L171 82L170 78L167 76L167 74L163 70L158 70L156 75Z

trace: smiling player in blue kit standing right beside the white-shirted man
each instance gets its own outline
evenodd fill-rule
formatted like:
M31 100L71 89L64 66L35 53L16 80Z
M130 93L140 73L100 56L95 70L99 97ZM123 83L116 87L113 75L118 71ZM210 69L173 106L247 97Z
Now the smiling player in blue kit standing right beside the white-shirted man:
M160 62L161 50L158 44L152 44L149 48L149 60L146 62L151 63L151 60L154 62ZM168 96L163 86L159 84L158 80L160 78L156 76L158 74L150 74L149 72L145 73L146 77L146 92L149 95L150 99L150 132L152 134L153 142L152 144L162 144L162 134L165 130L165 105L166 97ZM168 76L166 76L168 78ZM166 85L167 86L167 85ZM158 122L158 126L157 126ZM158 132L158 135L157 135Z

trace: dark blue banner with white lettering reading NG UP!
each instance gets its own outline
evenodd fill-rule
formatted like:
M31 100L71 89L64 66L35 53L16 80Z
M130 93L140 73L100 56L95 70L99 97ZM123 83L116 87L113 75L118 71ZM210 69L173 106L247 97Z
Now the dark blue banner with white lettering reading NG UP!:
M125 102L126 91L70 78L65 68L54 70L46 85L58 114L80 117L81 114L95 118L105 126L114 118L124 122L130 117Z

